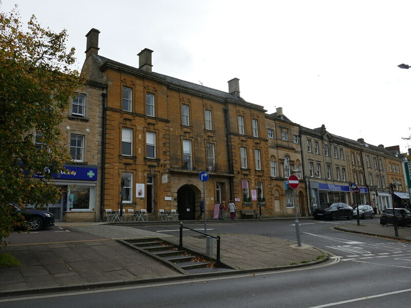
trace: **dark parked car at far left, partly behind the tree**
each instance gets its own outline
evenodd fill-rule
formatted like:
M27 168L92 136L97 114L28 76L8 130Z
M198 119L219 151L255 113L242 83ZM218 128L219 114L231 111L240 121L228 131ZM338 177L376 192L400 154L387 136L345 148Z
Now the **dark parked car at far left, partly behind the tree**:
M16 204L10 204L15 213L21 213L24 221L31 231L37 231L44 227L51 227L54 225L54 214L46 210L24 207L20 208Z

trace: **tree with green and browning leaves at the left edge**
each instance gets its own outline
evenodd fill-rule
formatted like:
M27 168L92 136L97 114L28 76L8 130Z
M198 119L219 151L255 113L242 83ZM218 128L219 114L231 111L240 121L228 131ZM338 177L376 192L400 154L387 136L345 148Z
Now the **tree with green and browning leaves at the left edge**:
M61 191L49 181L70 160L59 123L84 84L66 30L27 25L16 9L0 13L0 246L18 224L9 204L41 205Z

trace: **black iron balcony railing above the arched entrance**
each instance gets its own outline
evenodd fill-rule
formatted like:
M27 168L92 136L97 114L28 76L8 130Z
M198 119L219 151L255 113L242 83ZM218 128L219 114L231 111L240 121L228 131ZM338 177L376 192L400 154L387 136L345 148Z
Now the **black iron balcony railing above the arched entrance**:
M172 170L187 170L187 171L207 171L212 173L233 173L228 164L212 163L198 160L184 160L181 158L172 158L170 169Z

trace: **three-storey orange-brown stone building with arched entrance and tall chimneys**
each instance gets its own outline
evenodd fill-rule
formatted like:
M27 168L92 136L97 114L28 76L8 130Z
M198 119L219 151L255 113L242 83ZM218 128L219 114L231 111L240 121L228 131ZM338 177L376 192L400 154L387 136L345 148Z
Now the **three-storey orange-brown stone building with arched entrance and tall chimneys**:
M181 220L199 213L207 171L208 216L232 199L237 209L256 208L249 199L269 184L265 111L239 95L152 71L152 50L139 53L139 68L98 54L99 31L87 36L83 72L107 87L103 106L102 209L177 209ZM267 189L268 190L268 189ZM120 194L121 192L121 194Z

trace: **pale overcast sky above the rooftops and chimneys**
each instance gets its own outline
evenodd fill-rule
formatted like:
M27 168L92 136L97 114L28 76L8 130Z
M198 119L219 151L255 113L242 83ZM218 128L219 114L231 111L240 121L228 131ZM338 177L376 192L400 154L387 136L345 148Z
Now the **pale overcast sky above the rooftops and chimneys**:
M411 1L396 0L0 0L22 21L67 29L81 68L85 34L99 54L138 67L154 50L153 71L240 95L269 113L372 145L400 145L411 131Z

